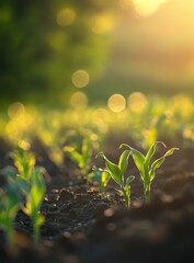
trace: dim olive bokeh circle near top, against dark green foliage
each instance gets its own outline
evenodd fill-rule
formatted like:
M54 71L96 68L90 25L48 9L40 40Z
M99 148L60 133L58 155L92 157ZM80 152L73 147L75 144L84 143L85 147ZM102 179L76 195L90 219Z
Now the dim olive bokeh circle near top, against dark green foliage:
M67 26L72 24L76 19L75 10L70 8L62 9L57 14L57 24L60 26Z

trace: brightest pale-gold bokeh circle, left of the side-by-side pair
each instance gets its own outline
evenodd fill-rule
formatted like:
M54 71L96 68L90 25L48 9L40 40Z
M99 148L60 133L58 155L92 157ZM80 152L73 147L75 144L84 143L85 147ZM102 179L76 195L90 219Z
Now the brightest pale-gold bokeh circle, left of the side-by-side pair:
M122 112L126 107L126 100L121 94L113 94L107 101L107 106L112 112Z

